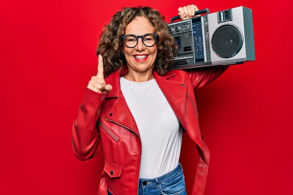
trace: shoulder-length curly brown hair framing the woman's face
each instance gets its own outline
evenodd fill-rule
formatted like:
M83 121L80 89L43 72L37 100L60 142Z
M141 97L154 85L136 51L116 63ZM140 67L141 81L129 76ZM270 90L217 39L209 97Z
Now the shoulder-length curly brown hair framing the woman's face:
M159 35L154 69L161 76L167 73L170 59L173 59L177 54L178 47L175 39L169 34L165 17L159 11L150 7L138 6L125 7L116 12L110 22L103 27L97 55L103 56L105 77L116 70L122 69L126 64L121 37L125 33L126 26L137 17L144 17L149 20L155 29L154 33Z

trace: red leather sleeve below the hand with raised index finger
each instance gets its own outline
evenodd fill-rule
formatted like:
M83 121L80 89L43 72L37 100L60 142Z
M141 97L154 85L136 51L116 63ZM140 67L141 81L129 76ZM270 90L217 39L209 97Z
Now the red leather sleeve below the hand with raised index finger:
M86 89L84 100L79 108L78 117L72 126L72 148L75 156L86 160L96 156L101 150L97 128L101 103L108 93L96 93Z

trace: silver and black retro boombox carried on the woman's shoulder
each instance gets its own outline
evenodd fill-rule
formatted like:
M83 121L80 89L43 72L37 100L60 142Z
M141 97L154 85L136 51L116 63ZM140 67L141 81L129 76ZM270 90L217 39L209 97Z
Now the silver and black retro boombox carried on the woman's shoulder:
M203 13L207 14L173 23L176 16L168 24L178 46L172 70L255 60L251 9L241 6L211 14L204 9L195 15Z

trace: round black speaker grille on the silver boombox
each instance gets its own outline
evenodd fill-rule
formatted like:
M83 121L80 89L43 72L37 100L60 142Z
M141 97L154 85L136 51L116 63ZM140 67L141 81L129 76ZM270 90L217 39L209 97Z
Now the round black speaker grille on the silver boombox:
M214 31L211 46L221 58L231 58L241 49L243 37L241 31L230 24L222 25Z

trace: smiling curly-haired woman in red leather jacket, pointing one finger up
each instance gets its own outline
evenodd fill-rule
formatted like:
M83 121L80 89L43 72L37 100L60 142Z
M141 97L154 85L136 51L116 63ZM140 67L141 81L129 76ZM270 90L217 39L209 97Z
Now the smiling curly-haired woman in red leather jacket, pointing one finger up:
M184 20L196 10L188 5L178 14ZM209 150L193 90L226 67L168 71L176 49L164 17L149 7L124 8L104 27L98 74L88 83L72 139L81 160L103 150L100 195L186 195L179 163L184 131L200 154L192 195L203 194Z

